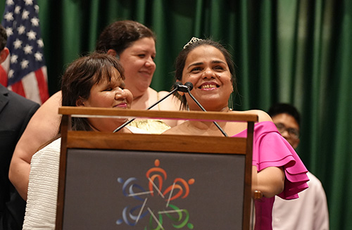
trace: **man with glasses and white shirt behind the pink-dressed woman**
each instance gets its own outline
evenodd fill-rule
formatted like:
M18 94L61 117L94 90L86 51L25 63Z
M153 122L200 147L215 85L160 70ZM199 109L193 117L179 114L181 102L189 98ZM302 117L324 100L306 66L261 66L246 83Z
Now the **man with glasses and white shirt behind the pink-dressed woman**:
M272 121L282 136L296 148L299 143L299 125L301 117L289 104L278 103L268 111ZM320 180L307 173L309 188L298 194L295 200L282 200L275 197L272 208L272 229L284 230L325 230L329 229L327 198Z

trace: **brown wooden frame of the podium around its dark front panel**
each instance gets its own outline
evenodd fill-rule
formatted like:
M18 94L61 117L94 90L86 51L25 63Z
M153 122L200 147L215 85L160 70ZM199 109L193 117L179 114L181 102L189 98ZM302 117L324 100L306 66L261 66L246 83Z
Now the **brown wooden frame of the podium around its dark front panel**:
M243 112L184 112L157 110L115 110L109 108L61 107L61 156L58 180L56 229L63 229L65 171L68 148L119 149L132 151L163 151L179 153L222 153L246 155L246 165L252 165L253 129L258 116ZM156 134L119 134L107 132L72 131L71 117L138 117L151 119L180 119L205 121L247 122L247 138L225 136L189 136ZM199 144L201 143L201 144ZM245 167L243 229L250 229L251 172Z

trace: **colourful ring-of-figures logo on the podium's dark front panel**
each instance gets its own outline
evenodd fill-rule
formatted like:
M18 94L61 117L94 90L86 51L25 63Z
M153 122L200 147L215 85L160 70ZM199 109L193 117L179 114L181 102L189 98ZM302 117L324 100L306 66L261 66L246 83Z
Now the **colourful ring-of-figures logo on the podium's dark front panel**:
M168 183L168 174L159 167L158 159L154 161L154 165L155 167L146 171L147 189L138 184L136 177L118 178L118 182L122 184L123 195L139 200L140 204L134 207L125 206L122 217L116 221L116 224L138 226L141 219L149 218L149 224L144 226L145 230L164 229L165 224L175 229L194 229L194 225L189 222L188 210L177 207L175 203L178 199L189 196L189 186L194 184L195 180L175 178L172 183Z

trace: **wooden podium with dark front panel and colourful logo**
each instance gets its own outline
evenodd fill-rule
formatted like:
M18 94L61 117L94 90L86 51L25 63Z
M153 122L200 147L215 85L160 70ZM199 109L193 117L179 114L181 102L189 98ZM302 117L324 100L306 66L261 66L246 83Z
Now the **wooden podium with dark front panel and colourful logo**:
M256 115L61 107L56 229L250 229ZM70 130L71 117L247 122L247 138Z

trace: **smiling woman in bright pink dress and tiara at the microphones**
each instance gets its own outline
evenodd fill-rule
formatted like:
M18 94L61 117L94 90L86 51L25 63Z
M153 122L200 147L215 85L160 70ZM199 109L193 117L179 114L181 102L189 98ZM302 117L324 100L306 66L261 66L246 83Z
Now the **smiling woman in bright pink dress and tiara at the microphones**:
M175 78L191 82L191 94L207 111L234 113L228 106L236 89L234 63L230 53L218 42L193 38L176 60ZM201 110L184 92L177 93L184 109ZM242 112L237 112L242 113ZM252 190L263 198L256 202L255 229L272 229L272 205L275 195L284 199L298 198L308 186L306 167L290 144L279 134L270 116L261 110L243 113L258 115L253 136ZM246 136L246 122L219 122L228 136ZM213 122L187 121L164 134L222 136Z

